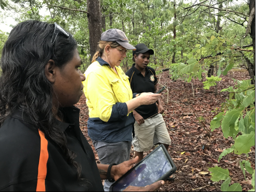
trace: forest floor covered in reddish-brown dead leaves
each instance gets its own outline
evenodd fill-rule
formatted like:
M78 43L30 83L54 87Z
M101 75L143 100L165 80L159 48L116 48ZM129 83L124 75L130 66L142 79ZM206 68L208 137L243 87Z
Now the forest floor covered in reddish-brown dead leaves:
M162 92L162 103L165 109L163 118L172 140L168 151L177 167L175 181L165 182L165 185L159 188L158 191L221 191L222 182L212 182L210 180L211 176L208 168L214 166L227 168L232 178L231 184L239 182L243 191L252 188L250 174L246 173L246 181L239 167L239 161L247 160L246 155L231 153L218 162L221 152L231 147L234 140L231 137L224 138L221 128L213 132L209 128L211 120L217 114L214 110L220 108L221 104L228 98L228 93L220 93L220 91L234 85L232 78L238 80L249 79L248 74L244 71L230 71L226 76L221 76L222 81L217 86L217 95L213 93L215 87L205 91L201 81L193 80L195 97L193 96L191 83L180 80L173 82L169 78L169 71L158 75L158 78L160 78L158 87L161 88L162 85L167 85L169 90L168 104L167 90L165 89ZM205 81L205 77L203 81ZM85 101L83 95L76 105L81 109L80 126L94 150L96 162L99 163L97 152L87 134L88 108ZM206 130L211 132L210 137L195 114L204 120ZM144 156L147 156L149 152L144 152ZM133 158L133 155L132 146L130 158ZM255 169L255 147L252 147L251 152L249 152L249 160L253 169Z

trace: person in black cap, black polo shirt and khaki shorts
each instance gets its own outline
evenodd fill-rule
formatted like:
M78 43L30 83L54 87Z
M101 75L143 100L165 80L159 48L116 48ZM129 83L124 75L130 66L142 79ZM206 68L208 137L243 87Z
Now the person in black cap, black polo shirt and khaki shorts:
M145 44L140 43L135 46L133 51L133 61L135 62L131 69L126 72L130 78L130 84L133 93L152 92L157 93L156 72L151 67L147 67L150 55L154 52ZM133 110L135 118L133 146L135 156L139 156L139 162L143 159L143 151L149 151L155 144L164 144L169 148L171 139L162 117L164 112L161 99L157 100L158 106L142 105Z

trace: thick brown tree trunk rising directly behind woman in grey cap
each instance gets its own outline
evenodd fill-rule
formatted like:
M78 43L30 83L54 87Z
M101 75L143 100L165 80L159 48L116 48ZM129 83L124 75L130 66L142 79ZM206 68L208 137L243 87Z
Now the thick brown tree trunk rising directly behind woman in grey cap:
M102 33L100 0L87 0L90 61L92 62Z

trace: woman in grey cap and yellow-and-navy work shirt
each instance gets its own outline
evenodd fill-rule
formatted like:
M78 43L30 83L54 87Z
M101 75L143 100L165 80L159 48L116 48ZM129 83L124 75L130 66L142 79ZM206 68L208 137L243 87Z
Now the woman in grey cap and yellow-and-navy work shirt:
M101 163L120 164L129 160L134 124L133 109L150 105L161 94L132 93L129 77L119 67L126 57L129 44L126 35L118 29L101 34L98 51L85 71L84 94L89 109L88 135ZM109 191L111 180L105 181Z

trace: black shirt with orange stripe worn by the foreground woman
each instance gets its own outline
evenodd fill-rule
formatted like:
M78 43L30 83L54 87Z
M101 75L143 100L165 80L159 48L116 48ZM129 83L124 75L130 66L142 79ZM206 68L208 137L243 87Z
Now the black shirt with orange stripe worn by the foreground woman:
M79 113L76 107L63 108L68 123L58 124L84 180L78 180L60 147L16 110L0 127L0 191L104 191L93 150L80 130Z

